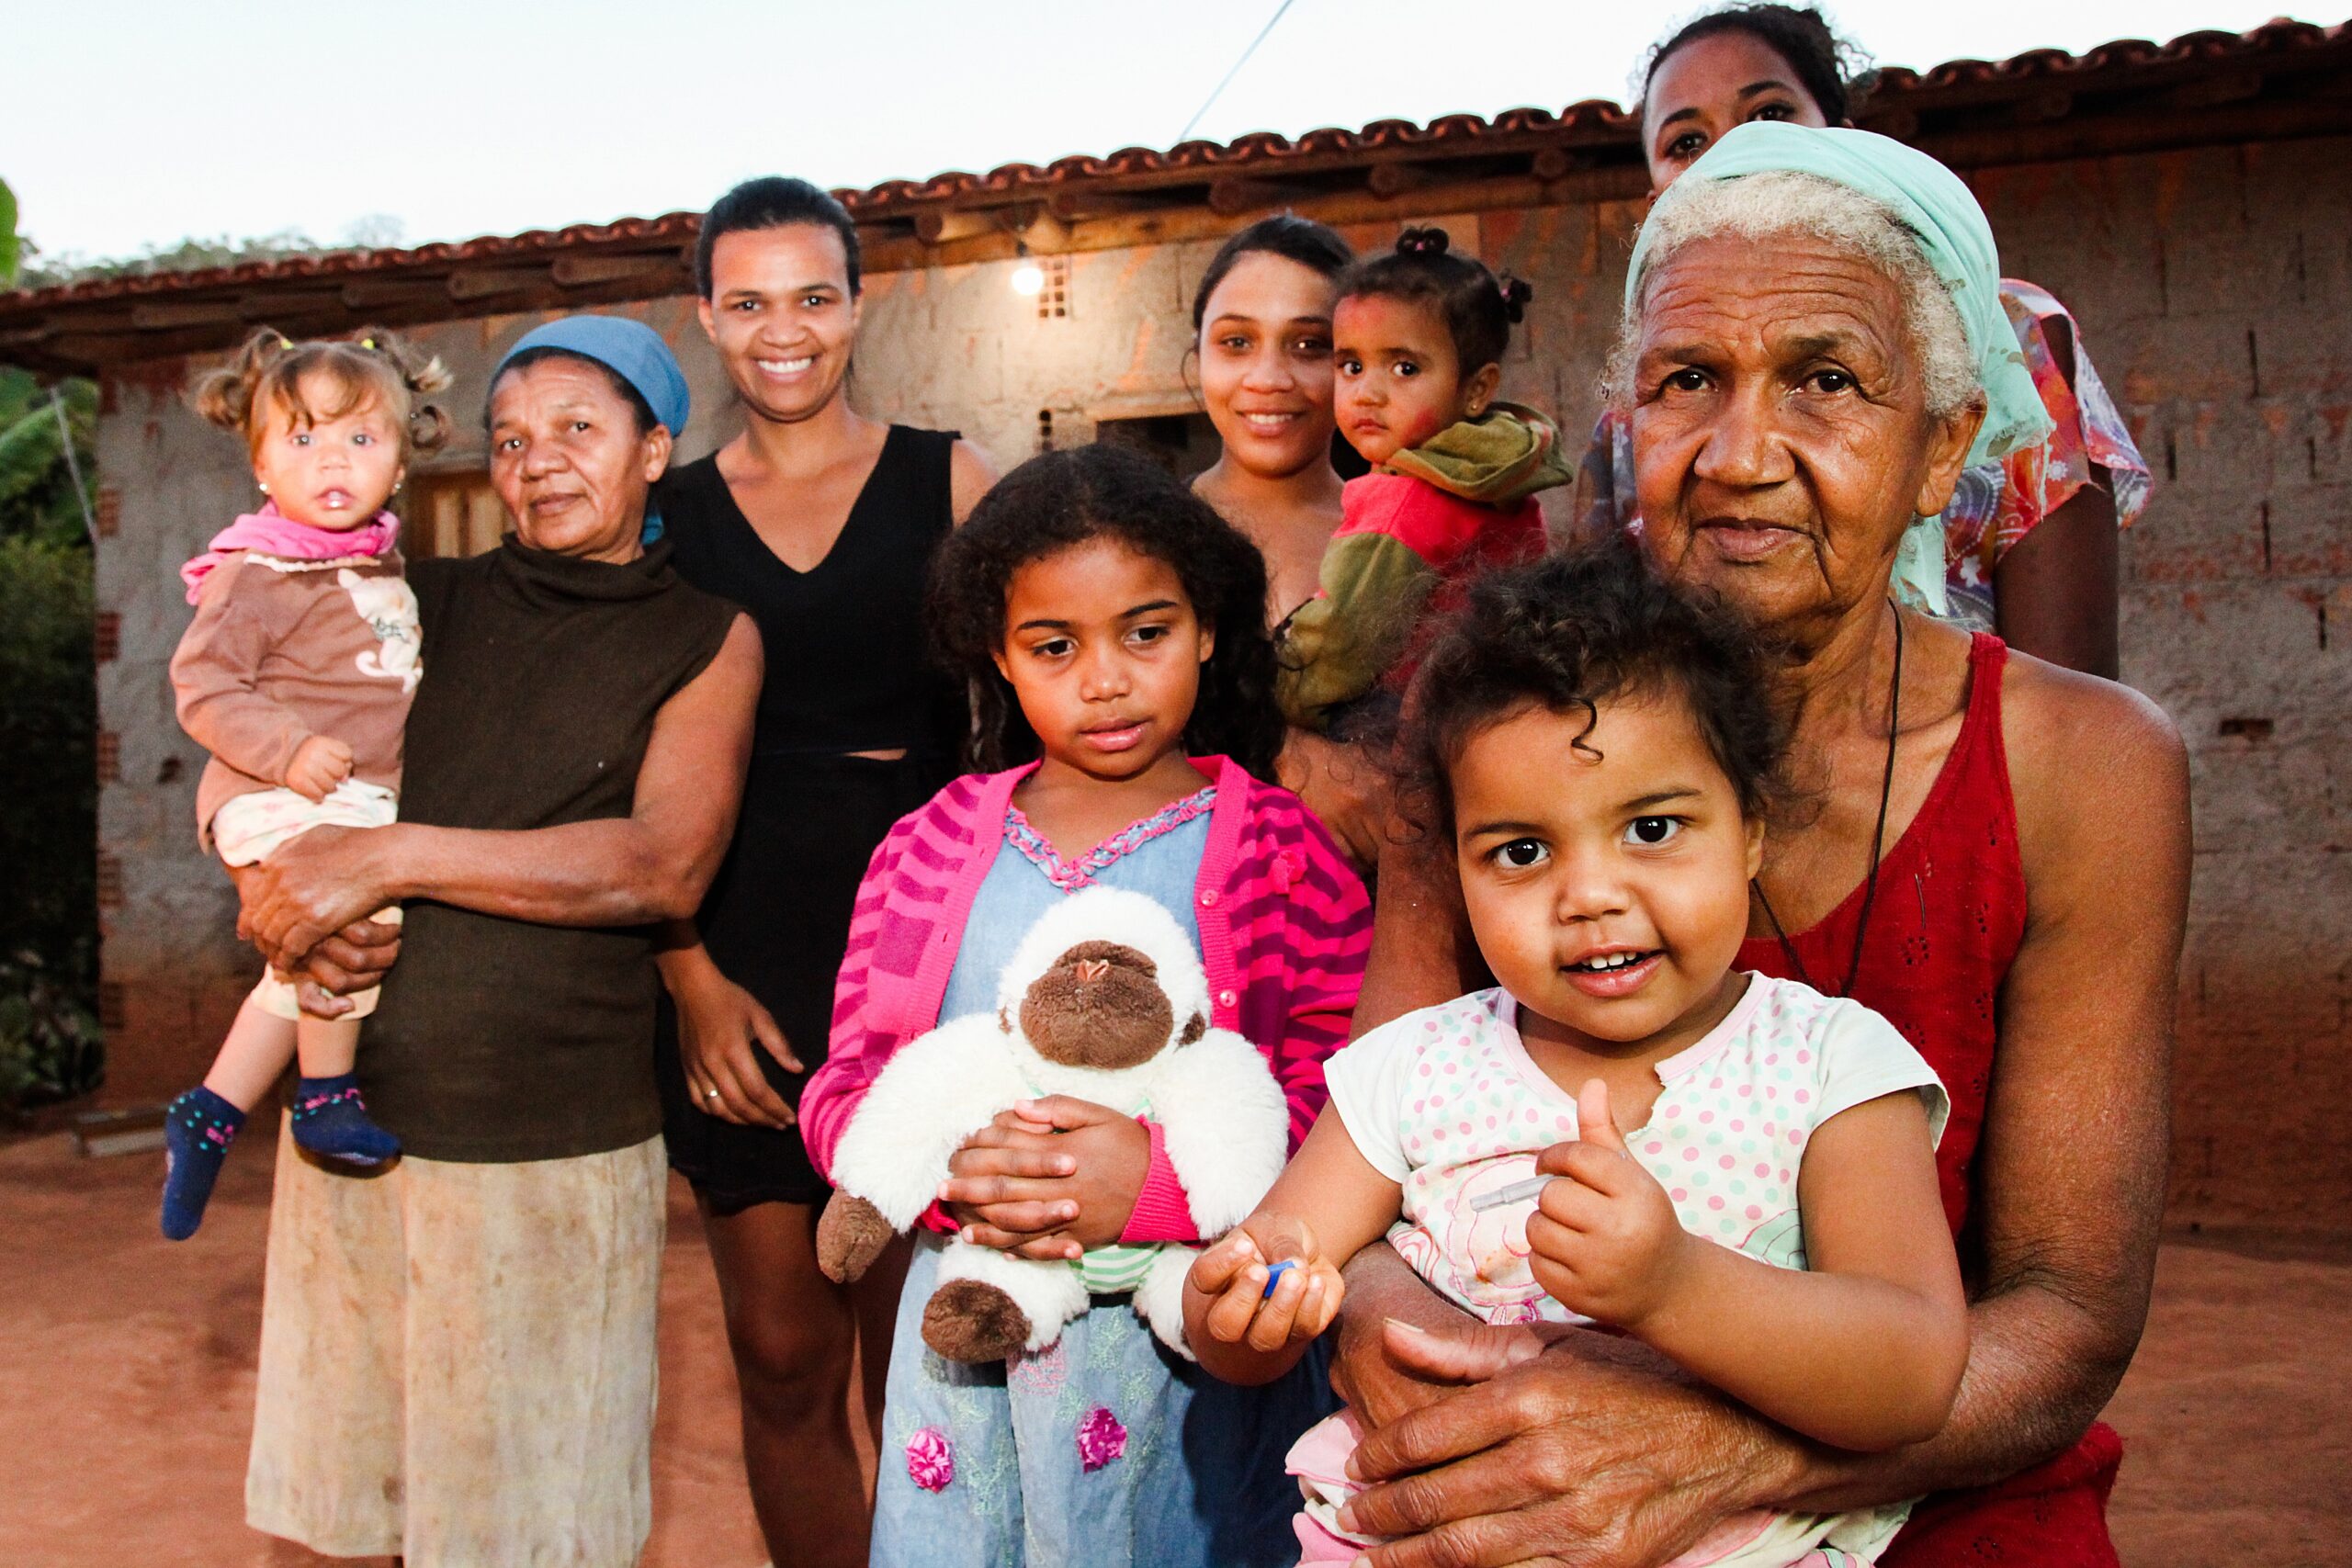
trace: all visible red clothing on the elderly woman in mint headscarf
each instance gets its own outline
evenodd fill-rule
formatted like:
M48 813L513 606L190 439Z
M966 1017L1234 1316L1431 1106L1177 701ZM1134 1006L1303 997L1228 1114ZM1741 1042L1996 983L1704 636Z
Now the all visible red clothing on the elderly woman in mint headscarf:
M2006 663L1999 637L1978 632L1969 644L1969 715L1919 816L1879 860L1851 992L1903 1030L1952 1095L1936 1178L1955 1237L1969 1218L1969 1166L1985 1131L2002 980L2025 940L2025 863L2002 745ZM1856 886L1820 924L1790 936L1816 985L1846 978L1860 914ZM1771 936L1740 945L1740 969L1802 978ZM2105 1505L2119 1460L2122 1443L2098 1425L2072 1450L1999 1486L1929 1497L1882 1568L2114 1568Z

